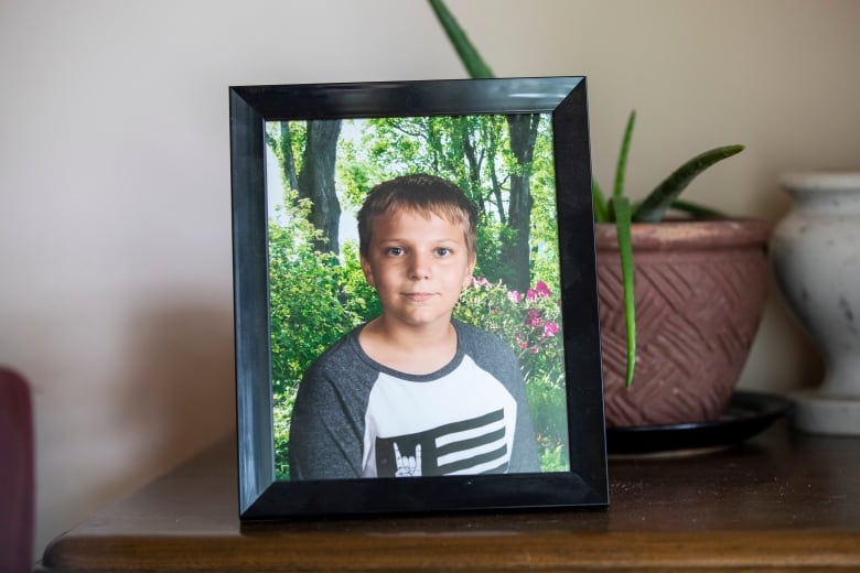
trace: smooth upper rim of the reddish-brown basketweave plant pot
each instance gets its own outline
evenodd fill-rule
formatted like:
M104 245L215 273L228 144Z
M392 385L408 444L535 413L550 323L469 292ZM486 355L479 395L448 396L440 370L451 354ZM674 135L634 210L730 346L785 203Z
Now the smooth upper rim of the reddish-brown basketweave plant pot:
M770 225L762 219L667 220L634 223L631 238L636 250L701 250L763 247L771 237ZM594 225L598 251L617 250L614 223Z

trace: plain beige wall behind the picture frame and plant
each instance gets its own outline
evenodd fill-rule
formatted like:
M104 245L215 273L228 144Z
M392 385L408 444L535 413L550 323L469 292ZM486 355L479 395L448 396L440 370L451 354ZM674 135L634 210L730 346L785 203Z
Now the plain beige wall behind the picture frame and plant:
M596 177L776 221L860 167L856 0L449 0L499 76L589 76ZM227 86L463 77L423 0L0 1L0 363L33 382L36 552L232 432ZM634 195L641 196L635 191ZM742 386L820 365L774 292Z

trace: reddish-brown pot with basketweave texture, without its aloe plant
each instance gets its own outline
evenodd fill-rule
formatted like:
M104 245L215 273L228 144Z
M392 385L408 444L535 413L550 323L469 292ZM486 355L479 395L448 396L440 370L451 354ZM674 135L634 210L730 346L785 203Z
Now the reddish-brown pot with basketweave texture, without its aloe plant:
M760 220L633 225L637 353L624 387L626 338L614 225L596 225L606 424L716 420L746 361L767 296Z

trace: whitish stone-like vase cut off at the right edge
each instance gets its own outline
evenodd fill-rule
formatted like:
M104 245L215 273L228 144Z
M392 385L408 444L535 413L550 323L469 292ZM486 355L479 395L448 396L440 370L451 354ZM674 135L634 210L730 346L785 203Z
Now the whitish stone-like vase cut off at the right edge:
M771 239L776 282L819 346L820 386L794 396L794 424L860 435L860 172L781 179L793 206Z

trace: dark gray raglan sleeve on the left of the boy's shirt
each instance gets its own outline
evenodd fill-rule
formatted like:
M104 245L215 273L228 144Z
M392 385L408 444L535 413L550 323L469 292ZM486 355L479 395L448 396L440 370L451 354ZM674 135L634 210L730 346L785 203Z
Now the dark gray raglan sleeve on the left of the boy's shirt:
M290 423L291 479L362 477L365 370L342 340L304 372Z

